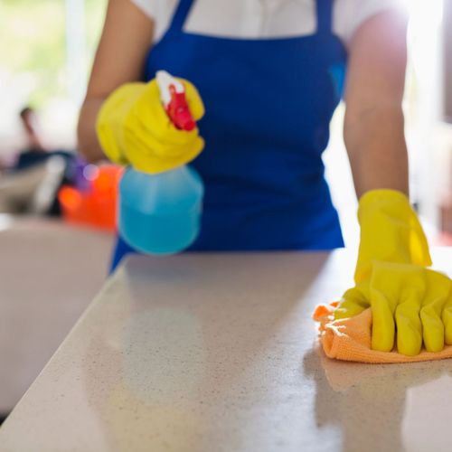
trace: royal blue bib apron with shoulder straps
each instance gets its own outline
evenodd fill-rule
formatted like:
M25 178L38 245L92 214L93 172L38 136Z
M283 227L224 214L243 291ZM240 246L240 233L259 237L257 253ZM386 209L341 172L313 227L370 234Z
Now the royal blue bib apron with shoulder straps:
M146 60L191 80L205 104L201 232L189 250L331 250L344 246L322 152L343 91L346 52L333 0L317 0L315 34L229 39L185 33L193 0ZM128 252L118 239L113 268Z

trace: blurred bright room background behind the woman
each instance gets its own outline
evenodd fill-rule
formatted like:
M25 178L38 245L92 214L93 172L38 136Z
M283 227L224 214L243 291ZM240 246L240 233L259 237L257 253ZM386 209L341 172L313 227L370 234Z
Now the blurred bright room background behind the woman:
M405 4L411 197L429 240L452 244L452 32L446 26L452 0ZM87 165L75 140L106 5L0 3L0 418L106 276L120 170ZM325 164L346 244L353 247L358 225L343 116L344 106L334 117Z

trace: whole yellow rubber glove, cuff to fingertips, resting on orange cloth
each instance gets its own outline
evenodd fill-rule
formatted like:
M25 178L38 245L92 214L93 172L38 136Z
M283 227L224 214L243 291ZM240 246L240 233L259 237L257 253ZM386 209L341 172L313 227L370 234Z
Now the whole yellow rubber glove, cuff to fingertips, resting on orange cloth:
M452 331L449 331L452 312L447 301L449 279L425 268L431 265L428 243L408 198L393 190L366 193L359 203L358 219L361 242L355 287L345 292L335 318L357 315L371 306L374 350L391 351L395 325L400 353L419 353L422 327L429 351L442 349L444 326L446 343L452 344ZM432 288L435 281L441 287L439 295ZM421 320L419 312L423 313ZM432 312L437 313L435 321L431 320ZM442 330L437 322L441 315Z

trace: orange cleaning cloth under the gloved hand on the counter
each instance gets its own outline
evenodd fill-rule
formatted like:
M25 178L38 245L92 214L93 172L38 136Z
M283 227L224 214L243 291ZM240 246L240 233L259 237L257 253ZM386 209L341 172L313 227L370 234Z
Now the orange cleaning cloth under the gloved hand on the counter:
M336 303L315 308L313 318L319 322L320 342L326 356L336 360L357 363L417 363L452 358L452 345L441 352L431 353L424 349L416 356L406 356L397 352L372 350L372 310L366 309L360 315L334 320Z

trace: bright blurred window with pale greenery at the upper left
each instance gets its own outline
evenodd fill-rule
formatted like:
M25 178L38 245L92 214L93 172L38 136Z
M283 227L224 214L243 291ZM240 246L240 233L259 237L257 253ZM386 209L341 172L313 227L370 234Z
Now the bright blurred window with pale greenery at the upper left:
M0 152L24 146L18 114L39 110L49 145L73 148L106 0L2 0Z

